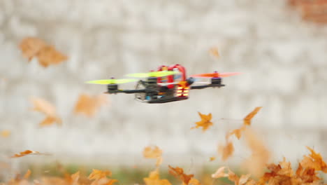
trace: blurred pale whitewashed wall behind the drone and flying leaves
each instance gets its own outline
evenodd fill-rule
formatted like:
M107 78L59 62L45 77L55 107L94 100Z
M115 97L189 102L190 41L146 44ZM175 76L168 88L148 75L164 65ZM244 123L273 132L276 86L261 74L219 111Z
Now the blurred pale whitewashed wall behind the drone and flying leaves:
M252 128L273 160L297 161L305 146L326 158L326 6L296 0L0 0L0 130L10 131L0 137L1 163L13 173L55 161L153 165L142 151L157 145L163 166L238 164L249 153L242 139L235 139L227 162L209 158L217 156L226 132L259 106ZM68 60L46 68L36 58L28 62L19 48L28 36ZM208 52L212 47L219 58ZM144 104L133 95L108 95L93 117L74 114L82 93L106 91L85 81L124 78L161 64L182 64L189 75L242 74L224 78L224 88L193 90L186 101ZM51 102L61 127L39 128L44 115L31 111L31 97ZM190 130L200 121L198 111L212 113L214 125L206 132ZM26 149L52 155L8 158Z

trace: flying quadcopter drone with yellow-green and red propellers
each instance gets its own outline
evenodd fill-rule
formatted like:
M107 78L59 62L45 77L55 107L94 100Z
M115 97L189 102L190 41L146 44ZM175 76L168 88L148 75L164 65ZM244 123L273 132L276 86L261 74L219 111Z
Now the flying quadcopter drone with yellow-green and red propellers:
M124 79L106 79L87 81L87 83L106 84L108 85L108 94L126 93L135 94L136 100L140 102L159 104L187 100L189 90L203 88L221 88L221 77L233 76L237 72L218 73L217 71L208 74L194 74L187 78L185 68L180 64L169 67L161 65L157 71L149 73L128 74L126 76L133 78ZM136 78L145 78L138 80ZM211 83L198 81L198 78L211 78ZM118 84L138 81L136 88L133 90L120 90ZM204 85L194 85L196 83L205 83Z

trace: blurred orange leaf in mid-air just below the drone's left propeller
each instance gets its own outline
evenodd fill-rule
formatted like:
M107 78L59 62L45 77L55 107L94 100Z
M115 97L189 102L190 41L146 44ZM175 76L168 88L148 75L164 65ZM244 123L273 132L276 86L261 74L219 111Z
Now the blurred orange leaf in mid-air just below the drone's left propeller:
M85 114L88 117L94 116L97 109L103 104L107 104L106 95L89 96L86 94L80 95L78 102L75 105L75 114Z

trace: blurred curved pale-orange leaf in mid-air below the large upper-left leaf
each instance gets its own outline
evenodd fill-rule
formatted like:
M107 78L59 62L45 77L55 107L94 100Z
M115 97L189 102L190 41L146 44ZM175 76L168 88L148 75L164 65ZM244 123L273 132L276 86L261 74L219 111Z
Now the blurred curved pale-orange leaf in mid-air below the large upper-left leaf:
M34 111L39 111L45 114L45 119L39 123L39 126L43 127L46 125L52 125L53 123L57 123L57 125L61 125L61 118L57 116L56 109L50 102L45 101L41 98L31 98L31 102L34 104Z

